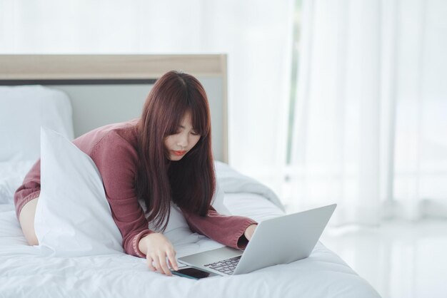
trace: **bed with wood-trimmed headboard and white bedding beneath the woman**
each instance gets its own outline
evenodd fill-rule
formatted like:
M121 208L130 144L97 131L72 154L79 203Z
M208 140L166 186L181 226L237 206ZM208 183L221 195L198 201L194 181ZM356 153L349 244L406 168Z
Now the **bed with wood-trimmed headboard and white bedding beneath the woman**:
M321 242L304 260L198 281L150 272L145 259L119 250L55 257L27 245L12 195L44 154L40 125L70 140L138 117L151 84L171 69L197 76L209 95L225 212L260 222L285 211L266 185L227 164L225 55L0 55L0 66L0 297L379 297ZM174 238L177 257L222 246L191 231Z

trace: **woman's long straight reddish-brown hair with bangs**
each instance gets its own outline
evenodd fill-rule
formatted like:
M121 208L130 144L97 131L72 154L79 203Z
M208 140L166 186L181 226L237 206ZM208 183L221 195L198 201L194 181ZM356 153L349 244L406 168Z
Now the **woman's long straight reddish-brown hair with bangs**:
M164 140L176 133L187 112L201 137L181 160L171 161ZM165 73L151 89L137 129L136 195L146 203L148 220L164 231L171 200L182 210L205 216L214 195L216 175L209 103L201 83L187 73Z

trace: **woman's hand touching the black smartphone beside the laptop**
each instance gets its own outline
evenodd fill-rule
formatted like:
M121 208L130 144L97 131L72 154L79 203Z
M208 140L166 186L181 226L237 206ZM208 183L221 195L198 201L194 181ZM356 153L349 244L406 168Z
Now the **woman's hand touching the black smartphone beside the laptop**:
M158 270L161 274L172 276L166 264L166 257L169 260L171 269L178 270L179 265L176 260L176 251L171 241L161 233L151 233L141 238L139 246L143 248L141 252L146 252L146 260L149 269ZM146 248L144 250L144 248ZM154 264L152 264L154 262Z

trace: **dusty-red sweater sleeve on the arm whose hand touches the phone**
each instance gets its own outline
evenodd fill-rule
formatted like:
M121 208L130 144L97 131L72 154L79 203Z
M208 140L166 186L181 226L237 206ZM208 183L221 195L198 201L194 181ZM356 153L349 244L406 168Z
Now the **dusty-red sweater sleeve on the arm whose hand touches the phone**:
M123 237L124 251L146 257L139 250L142 237L151 234L135 190L137 153L135 148L115 132L108 133L92 150L91 158L104 183L112 217Z

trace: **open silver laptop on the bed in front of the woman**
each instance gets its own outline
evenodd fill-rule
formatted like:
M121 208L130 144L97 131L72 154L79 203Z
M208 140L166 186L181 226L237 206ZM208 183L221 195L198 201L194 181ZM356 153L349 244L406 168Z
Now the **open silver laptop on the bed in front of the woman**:
M221 276L245 274L309 255L326 227L336 204L263 220L245 250L221 247L179 257L178 261Z

